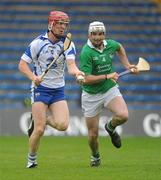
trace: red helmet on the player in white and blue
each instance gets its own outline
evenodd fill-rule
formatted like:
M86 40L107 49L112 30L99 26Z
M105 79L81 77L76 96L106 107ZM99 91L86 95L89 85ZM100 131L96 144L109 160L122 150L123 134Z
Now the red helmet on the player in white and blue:
M69 24L69 17L62 11L51 11L48 18L48 30L51 31L52 26L57 22Z

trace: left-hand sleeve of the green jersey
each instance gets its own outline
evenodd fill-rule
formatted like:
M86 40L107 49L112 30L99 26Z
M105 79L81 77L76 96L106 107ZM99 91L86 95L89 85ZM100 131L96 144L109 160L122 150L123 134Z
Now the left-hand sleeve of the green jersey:
M85 48L82 49L80 54L80 70L86 75L92 74L92 58Z

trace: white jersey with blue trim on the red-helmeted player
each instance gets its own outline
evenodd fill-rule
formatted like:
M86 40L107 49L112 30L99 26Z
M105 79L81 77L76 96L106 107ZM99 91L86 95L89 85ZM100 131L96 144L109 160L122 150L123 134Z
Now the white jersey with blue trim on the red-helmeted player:
M57 42L48 39L48 34L41 35L34 39L26 49L21 59L27 63L34 63L34 74L40 76L48 67L48 65L63 50L65 38L61 38ZM48 88L59 88L65 85L64 70L66 60L75 59L75 45L71 42L69 48L59 57L53 64L51 69L45 75L41 85Z

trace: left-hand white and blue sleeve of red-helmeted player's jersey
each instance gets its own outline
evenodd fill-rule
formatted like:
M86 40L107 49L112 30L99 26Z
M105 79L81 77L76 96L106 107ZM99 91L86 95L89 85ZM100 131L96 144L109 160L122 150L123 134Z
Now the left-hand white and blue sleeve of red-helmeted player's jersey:
M27 63L31 63L33 59L36 58L37 53L38 53L38 41L33 41L26 48L25 52L21 56L21 59L26 61Z

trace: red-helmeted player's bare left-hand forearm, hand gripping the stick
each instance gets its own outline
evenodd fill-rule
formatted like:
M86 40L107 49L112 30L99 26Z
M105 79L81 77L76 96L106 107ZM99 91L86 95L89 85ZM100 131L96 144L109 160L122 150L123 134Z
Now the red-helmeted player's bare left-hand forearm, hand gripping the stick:
M41 83L40 77L33 74L28 63L23 59L20 60L18 68L26 77L28 77L34 84L39 85Z

